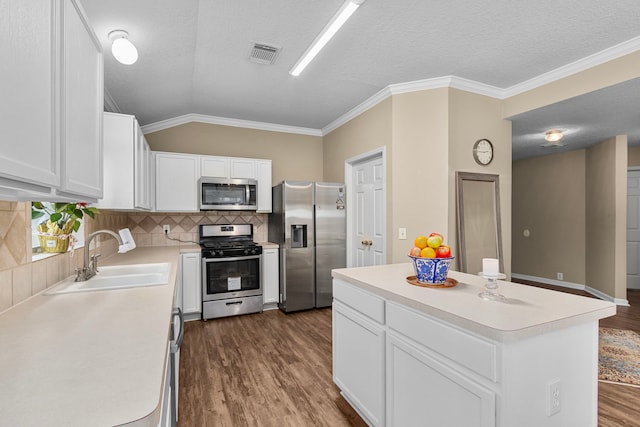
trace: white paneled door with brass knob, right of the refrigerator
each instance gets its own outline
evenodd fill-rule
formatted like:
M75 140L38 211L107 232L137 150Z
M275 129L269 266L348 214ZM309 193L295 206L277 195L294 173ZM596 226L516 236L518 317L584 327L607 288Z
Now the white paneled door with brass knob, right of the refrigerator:
M352 259L356 267L385 263L384 168L381 157L353 166L355 224Z

